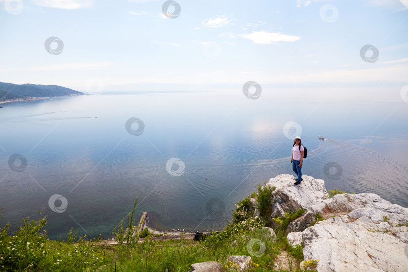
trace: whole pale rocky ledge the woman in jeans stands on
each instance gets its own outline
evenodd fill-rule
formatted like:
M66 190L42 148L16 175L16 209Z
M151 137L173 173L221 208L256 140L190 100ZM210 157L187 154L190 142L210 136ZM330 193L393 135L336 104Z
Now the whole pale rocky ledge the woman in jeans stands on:
M272 218L306 210L287 228L304 261L318 259L317 271L408 271L408 208L374 193L329 198L323 180L302 177L294 186L294 176L282 174L266 186L275 187Z

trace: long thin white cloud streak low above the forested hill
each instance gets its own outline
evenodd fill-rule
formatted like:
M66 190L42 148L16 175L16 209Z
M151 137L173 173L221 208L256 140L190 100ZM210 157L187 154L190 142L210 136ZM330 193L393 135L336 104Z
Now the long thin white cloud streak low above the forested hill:
M113 62L100 61L100 62L73 62L73 63L58 63L48 64L42 66L33 66L25 68L0 68L0 72L16 72L16 71L60 71L60 70L74 70L74 71L88 71L98 70L101 67L112 65Z

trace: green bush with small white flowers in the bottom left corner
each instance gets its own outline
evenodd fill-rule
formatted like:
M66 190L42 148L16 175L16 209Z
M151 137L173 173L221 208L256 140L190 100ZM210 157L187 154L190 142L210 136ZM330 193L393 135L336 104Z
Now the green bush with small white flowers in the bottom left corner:
M39 213L41 214L41 212ZM6 236L10 225L0 228L1 271L89 271L103 265L99 240L85 241L69 232L68 242L49 241L45 217L39 220L25 218L14 236Z

